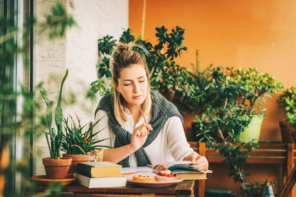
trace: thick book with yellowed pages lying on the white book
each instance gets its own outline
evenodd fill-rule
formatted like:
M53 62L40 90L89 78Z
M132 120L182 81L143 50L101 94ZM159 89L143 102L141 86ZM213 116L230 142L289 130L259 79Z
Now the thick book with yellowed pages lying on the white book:
M108 161L77 163L77 172L90 178L119 177L122 165Z

